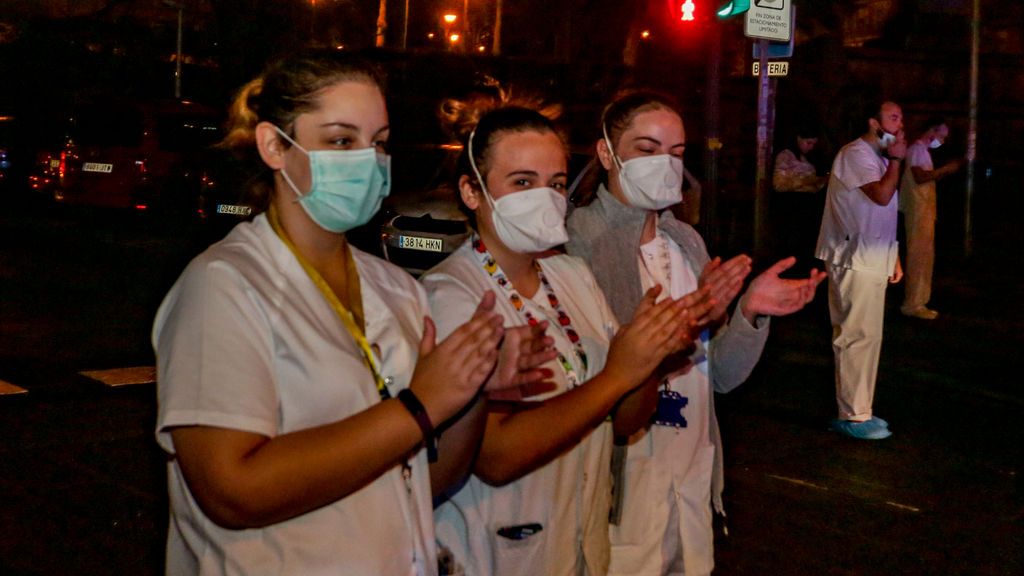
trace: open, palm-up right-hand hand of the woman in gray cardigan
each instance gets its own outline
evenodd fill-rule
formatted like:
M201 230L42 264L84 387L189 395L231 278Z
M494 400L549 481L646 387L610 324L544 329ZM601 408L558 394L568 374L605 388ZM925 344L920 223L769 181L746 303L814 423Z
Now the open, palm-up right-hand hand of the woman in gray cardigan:
M797 258L793 256L783 258L751 282L741 311L749 321L753 323L756 316L793 314L814 299L815 289L828 275L811 270L808 278L779 278L779 274L790 270L795 263Z

